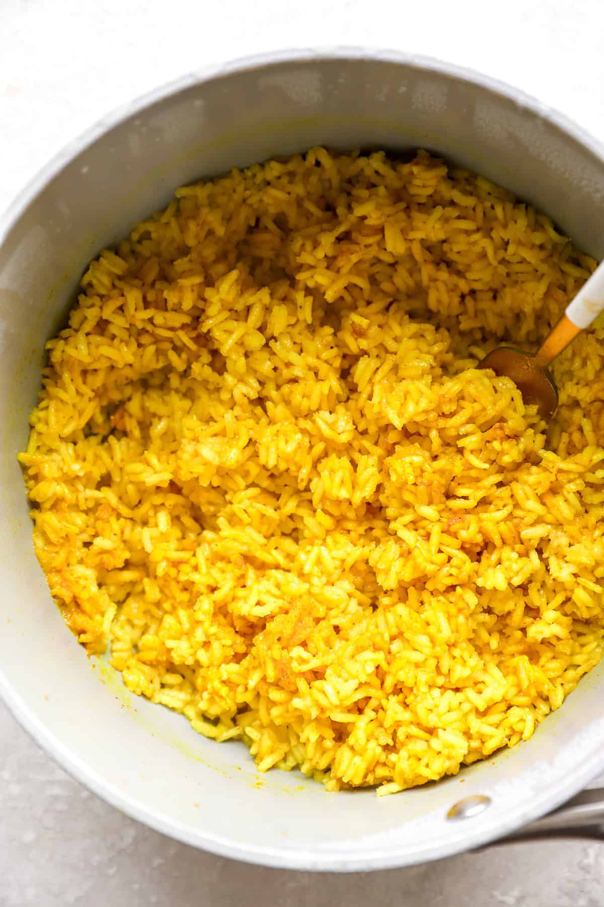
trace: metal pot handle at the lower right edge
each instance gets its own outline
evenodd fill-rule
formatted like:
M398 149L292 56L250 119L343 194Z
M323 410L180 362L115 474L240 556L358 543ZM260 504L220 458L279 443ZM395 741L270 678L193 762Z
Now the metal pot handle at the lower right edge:
M604 787L581 791L572 799L496 844L517 844L547 838L594 838L604 841Z

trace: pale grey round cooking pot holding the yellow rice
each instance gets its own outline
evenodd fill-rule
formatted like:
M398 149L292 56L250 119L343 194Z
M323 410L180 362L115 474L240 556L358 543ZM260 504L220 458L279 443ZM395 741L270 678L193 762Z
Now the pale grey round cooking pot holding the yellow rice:
M597 775L602 666L529 742L437 785L378 798L370 790L328 794L299 774L260 776L242 744L197 736L183 717L130 696L119 675L86 657L35 560L16 461L44 340L62 325L88 260L165 205L177 185L316 143L439 151L547 211L582 249L604 254L599 145L522 93L445 63L350 49L272 55L194 73L101 120L48 165L0 228L0 689L63 767L165 834L254 863L367 870L485 844ZM490 803L447 818L471 795ZM567 814L577 824L584 812Z

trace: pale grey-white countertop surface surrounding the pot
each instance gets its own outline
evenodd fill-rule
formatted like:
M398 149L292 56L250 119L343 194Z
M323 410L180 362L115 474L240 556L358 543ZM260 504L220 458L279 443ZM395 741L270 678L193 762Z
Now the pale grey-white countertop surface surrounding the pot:
M206 63L278 47L440 56L520 85L604 140L603 26L601 0L0 0L0 210L103 112ZM356 875L200 853L89 793L2 705L0 815L0 907L604 904L604 844L508 845Z

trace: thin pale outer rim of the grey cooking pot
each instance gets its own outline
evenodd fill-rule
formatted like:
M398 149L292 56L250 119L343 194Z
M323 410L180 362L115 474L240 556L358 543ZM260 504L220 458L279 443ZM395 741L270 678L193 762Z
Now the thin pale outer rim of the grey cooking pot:
M132 101L121 104L111 112L106 113L91 127L68 142L61 151L38 171L33 179L25 183L18 194L9 204L5 213L0 216L0 247L25 210L34 202L36 197L52 182L52 180L72 162L82 151L89 148L111 129L126 121L129 117L149 108L157 102L164 101L172 96L185 91L187 88L200 83L220 79L232 73L242 73L254 69L268 68L278 63L308 63L319 61L363 61L400 63L417 71L441 73L453 77L455 80L473 84L488 92L502 96L512 101L542 120L549 122L560 132L565 133L572 141L579 144L584 150L598 161L604 173L604 144L595 139L577 123L565 114L551 109L539 102L531 95L503 83L491 76L484 75L473 69L459 66L456 63L447 63L425 55L409 54L397 50L377 49L357 46L335 46L317 48L292 48L281 51L271 51L263 54L252 54L239 57L228 63L212 63L192 72L179 76L148 93L139 95ZM362 853L350 853L345 848L338 849L337 844L331 850L324 847L312 850L311 848L277 848L258 846L255 844L237 844L220 835L211 834L200 828L191 828L187 824L178 823L165 814L149 809L140 799L129 796L118 785L108 783L101 772L92 769L87 763L75 756L70 748L62 743L45 727L43 721L35 716L13 687L5 671L0 667L0 696L4 699L17 722L43 748L65 771L72 775L82 785L88 787L94 794L101 797L110 805L115 806L122 813L129 815L143 824L162 834L180 841L183 844L196 846L210 853L230 857L246 863L271 866L276 869L295 869L322 872L363 872L378 869L395 869L414 863L427 862L461 853L479 846L484 846L499 837L511 834L513 831L539 818L551 809L564 803L582 787L588 784L604 768L604 720L599 722L597 728L590 732L589 745L584 746L580 756L580 765L570 765L566 770L560 770L561 780L554 788L540 791L539 795L532 795L525 802L517 803L512 809L503 814L495 815L488 810L481 821L480 827L475 824L451 824L447 826L449 834L446 841L442 838L435 840L430 848L417 845L415 848L407 847L405 853L397 853L392 847L383 844L373 850L364 850ZM572 771L568 771L572 769ZM490 817L492 815L492 818Z

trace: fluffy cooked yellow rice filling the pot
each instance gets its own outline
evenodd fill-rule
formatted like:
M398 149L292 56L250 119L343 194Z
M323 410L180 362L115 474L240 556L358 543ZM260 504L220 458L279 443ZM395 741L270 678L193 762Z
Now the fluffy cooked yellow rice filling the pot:
M602 653L604 329L549 434L475 366L595 267L419 152L177 190L91 262L21 455L64 619L261 771L390 793L532 736Z

